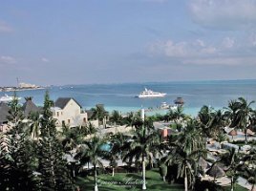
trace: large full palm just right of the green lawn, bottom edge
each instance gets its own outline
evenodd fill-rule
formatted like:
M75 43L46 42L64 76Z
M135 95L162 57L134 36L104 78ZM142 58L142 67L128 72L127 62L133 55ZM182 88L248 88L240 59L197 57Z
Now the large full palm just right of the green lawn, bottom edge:
M193 188L200 170L199 159L205 158L205 138L199 123L190 119L178 136L169 141L169 153L165 162L178 166L178 178L184 178L185 191Z

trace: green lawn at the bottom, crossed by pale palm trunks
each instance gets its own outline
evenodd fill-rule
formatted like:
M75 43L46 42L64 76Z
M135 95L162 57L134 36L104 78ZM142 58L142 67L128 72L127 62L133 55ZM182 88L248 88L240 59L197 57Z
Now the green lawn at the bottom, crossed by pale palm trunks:
M115 177L108 174L99 175L97 178L99 191L139 191L142 187L141 173L117 173ZM81 191L94 190L94 178L88 176L86 178L78 177L76 184L79 185ZM157 169L146 172L147 190L184 190L181 184L168 184L161 180L160 173Z

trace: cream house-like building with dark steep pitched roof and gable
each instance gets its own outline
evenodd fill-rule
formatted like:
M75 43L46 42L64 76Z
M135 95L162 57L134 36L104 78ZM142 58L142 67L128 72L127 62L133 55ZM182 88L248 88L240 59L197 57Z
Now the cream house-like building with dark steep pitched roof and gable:
M72 97L59 97L52 108L56 126L67 125L75 127L88 121L87 113L82 106Z

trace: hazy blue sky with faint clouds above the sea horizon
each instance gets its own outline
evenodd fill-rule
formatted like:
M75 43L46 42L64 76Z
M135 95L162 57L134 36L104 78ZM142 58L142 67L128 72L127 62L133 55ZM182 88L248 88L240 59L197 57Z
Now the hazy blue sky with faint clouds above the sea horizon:
M256 0L0 0L0 86L256 78Z

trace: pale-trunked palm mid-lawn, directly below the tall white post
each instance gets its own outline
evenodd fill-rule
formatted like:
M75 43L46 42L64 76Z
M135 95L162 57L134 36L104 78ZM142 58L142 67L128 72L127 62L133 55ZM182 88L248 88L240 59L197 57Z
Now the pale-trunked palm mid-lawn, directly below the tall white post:
M160 144L160 135L154 131L152 121L137 121L136 129L134 132L133 141L128 142L129 148L126 151L123 161L128 160L132 163L133 160L141 161L142 163L142 189L146 189L145 182L145 161L146 159L153 162L154 157L157 153L160 153L158 146Z

